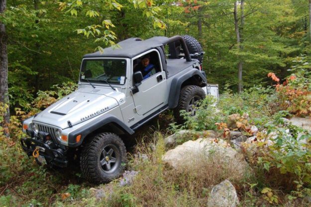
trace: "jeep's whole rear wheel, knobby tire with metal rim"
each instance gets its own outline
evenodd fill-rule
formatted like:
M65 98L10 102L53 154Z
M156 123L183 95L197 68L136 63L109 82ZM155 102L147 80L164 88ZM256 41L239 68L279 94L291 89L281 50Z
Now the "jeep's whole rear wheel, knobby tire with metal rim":
M180 111L185 110L191 116L196 115L197 107L201 100L205 98L206 94L202 88L196 85L188 85L182 88L178 106L174 109L174 117L177 123L182 124L185 120L180 115Z

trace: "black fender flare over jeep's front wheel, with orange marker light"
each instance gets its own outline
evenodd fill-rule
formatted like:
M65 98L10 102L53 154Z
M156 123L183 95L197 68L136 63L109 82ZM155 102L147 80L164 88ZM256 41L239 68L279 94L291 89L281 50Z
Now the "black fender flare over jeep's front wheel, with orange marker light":
M128 133L130 135L135 133L131 128L126 126L123 123L123 121L119 120L117 117L107 115L101 118L101 120L95 119L92 122L85 124L84 126L70 132L68 135L68 147L80 146L83 143L83 140L85 139L86 136L109 123L116 124L123 132ZM76 137L78 135L81 135L80 142L76 142Z

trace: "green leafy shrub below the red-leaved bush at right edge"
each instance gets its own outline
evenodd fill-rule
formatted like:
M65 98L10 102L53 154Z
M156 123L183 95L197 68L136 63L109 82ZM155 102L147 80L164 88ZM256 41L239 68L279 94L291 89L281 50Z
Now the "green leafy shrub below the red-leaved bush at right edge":
M281 114L284 114L281 112ZM258 163L264 165L269 171L271 168L279 169L281 174L294 176L301 186L311 186L311 133L284 122L282 115L274 116L274 122L266 125L267 136L271 136L273 145L261 149L263 157ZM299 187L299 188L298 188Z

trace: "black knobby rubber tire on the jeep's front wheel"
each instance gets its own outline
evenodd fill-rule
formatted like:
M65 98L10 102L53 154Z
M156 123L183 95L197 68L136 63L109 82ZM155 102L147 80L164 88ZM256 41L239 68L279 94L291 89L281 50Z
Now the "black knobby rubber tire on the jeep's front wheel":
M113 166L114 170L107 173L101 165L101 157L104 154L105 146L114 146L118 151L118 163ZM116 153L116 152L115 152ZM112 157L112 156L111 156ZM103 159L102 159L103 160ZM111 159L112 162L112 159ZM85 179L90 183L108 183L120 176L126 163L126 149L123 141L113 133L100 133L89 139L82 149L80 168ZM109 164L110 166L110 164Z

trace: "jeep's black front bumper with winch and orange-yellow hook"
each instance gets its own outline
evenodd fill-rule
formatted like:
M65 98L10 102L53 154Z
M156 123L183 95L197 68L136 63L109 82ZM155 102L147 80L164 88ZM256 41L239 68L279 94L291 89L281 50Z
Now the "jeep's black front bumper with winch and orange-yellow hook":
M48 165L65 168L68 166L67 157L62 149L51 149L45 143L30 138L21 138L21 147L30 157L33 151L38 147L40 156L43 156Z

